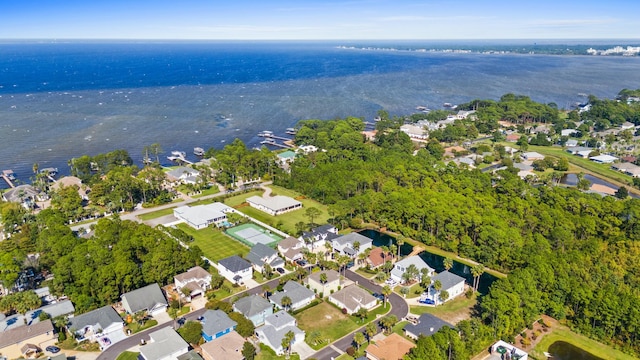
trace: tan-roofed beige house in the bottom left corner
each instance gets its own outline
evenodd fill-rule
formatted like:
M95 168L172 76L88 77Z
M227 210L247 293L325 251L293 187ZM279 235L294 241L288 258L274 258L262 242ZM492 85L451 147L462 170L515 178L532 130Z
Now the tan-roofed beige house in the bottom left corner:
M54 345L56 341L53 324L47 319L34 325L23 325L0 333L0 354L7 359L33 357L47 346Z

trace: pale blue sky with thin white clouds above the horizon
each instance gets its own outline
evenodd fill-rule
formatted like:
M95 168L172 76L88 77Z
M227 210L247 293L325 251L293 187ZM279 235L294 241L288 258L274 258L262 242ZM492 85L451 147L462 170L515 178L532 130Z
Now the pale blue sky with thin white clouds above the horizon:
M19 0L0 39L640 39L640 1Z

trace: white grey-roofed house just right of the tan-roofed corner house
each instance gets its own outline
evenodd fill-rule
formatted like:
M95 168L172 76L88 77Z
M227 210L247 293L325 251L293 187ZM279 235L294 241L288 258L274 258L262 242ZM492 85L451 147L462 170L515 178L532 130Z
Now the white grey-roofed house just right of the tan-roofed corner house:
M103 350L126 338L124 321L111 305L70 319L67 328L79 341L97 342Z

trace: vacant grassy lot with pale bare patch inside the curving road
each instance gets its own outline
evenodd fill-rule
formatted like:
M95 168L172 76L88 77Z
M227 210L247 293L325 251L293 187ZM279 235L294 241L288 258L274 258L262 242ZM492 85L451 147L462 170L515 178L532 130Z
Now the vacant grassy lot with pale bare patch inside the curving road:
M298 327L304 330L307 335L314 331L319 331L320 338L324 340L320 345L314 346L314 349L320 349L329 343L347 335L362 324L356 323L349 315L343 314L333 305L322 302L294 316L298 320Z

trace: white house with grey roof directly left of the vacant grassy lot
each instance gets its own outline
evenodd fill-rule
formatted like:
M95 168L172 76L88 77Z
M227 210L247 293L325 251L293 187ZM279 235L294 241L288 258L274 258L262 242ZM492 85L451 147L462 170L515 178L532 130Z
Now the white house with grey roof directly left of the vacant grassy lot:
M285 311L278 311L265 319L264 325L256 329L256 334L261 343L272 348L277 355L282 355L282 339L289 331L294 334L291 346L304 341L304 331L298 328L296 319Z

